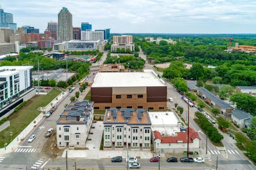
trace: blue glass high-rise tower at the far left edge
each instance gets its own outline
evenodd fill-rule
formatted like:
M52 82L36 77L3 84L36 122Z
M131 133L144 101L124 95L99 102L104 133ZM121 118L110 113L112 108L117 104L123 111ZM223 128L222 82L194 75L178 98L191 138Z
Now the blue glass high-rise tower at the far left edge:
M13 14L3 11L0 5L0 27L7 27L16 32L17 24L13 23Z

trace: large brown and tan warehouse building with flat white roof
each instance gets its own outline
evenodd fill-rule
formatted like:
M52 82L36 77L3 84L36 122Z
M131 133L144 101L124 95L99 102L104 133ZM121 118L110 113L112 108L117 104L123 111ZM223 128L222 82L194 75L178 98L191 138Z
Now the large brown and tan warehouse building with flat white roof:
M94 109L167 109L167 86L151 70L143 73L98 73L91 87Z

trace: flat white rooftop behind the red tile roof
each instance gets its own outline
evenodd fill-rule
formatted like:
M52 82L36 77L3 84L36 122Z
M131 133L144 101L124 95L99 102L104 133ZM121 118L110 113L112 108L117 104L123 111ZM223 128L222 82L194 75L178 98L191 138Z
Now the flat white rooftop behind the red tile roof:
M152 131L159 131L162 135L175 136L179 132L179 120L174 112L148 112Z

